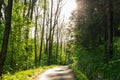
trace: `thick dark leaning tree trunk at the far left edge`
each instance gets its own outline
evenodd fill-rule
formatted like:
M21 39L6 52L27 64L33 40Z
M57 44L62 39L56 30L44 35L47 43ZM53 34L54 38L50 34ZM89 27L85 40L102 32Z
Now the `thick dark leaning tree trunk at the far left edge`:
M13 0L8 0L8 6L6 8L6 16L5 16L6 23L5 23L3 44L2 44L2 49L0 53L0 76L2 76L3 66L6 59L6 54L7 54L9 34L11 30L12 4L13 4Z

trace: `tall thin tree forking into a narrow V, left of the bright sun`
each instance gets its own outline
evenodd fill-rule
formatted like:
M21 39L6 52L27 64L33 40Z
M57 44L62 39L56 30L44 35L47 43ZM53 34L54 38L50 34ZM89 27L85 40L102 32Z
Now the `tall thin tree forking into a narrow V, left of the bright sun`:
M50 30L49 30L49 54L48 54L48 65L51 64L51 56L52 56L52 47L53 47L53 41L54 41L54 33L55 33L55 28L58 23L58 19L61 13L61 5L62 1L57 0L57 8L55 10L55 15L53 17L53 0L51 0L51 11L50 11Z

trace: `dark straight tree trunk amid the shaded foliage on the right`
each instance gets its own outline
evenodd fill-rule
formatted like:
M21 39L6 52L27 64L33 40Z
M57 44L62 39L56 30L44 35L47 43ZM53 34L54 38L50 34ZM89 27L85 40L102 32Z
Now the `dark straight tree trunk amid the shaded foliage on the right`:
M108 45L107 58L113 56L113 0L108 0Z

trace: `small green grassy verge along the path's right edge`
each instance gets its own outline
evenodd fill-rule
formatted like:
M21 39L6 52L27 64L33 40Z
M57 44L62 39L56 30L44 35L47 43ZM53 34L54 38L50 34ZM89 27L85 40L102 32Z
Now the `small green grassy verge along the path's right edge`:
M77 80L88 80L88 78L77 68L70 66Z

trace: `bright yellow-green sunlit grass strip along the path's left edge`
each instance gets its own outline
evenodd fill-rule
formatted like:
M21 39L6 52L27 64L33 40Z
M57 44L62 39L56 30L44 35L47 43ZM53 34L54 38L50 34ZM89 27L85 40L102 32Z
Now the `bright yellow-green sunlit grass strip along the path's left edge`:
M16 72L15 74L8 73L3 75L2 80L32 80L33 76L39 73L42 73L43 71L52 67L55 67L55 66L44 66L36 69L29 69L25 71Z

